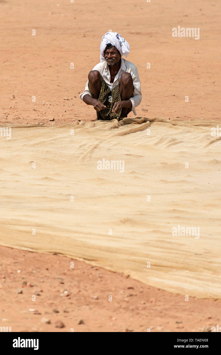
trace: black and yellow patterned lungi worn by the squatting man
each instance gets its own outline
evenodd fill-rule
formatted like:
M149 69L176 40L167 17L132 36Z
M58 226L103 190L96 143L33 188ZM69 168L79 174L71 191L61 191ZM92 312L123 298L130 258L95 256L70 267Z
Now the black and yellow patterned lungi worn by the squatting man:
M90 83L88 83L88 88L90 90L92 98L94 98L90 89ZM134 96L134 86L132 96ZM117 101L121 101L119 85L115 86L111 90L104 81L104 78L101 76L101 91L98 100L106 106L106 109L103 109L99 112L96 111L98 120L113 120L115 118L119 121L122 119L121 110L118 114L112 112L114 103ZM129 114L130 111L132 111L132 108L128 107L127 114Z

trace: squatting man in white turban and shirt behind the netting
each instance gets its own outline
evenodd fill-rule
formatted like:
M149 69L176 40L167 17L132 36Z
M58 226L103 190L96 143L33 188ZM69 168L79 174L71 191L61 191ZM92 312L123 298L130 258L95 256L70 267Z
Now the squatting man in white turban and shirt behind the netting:
M100 63L89 72L84 92L79 95L87 105L93 105L98 120L127 117L140 105L142 95L137 67L122 58L130 53L129 43L117 32L103 35Z

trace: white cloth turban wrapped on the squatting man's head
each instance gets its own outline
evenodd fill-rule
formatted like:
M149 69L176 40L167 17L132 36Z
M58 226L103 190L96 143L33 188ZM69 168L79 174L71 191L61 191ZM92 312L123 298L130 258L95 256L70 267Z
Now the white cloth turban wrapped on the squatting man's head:
M119 50L121 56L125 55L125 57L127 57L127 55L130 53L130 45L126 41L126 39L124 39L117 32L107 32L101 38L101 45L100 45L100 50L101 50L100 60L101 60L101 62L103 62L105 60L103 54L104 54L104 49L106 48L108 43L111 43L114 47L116 47Z

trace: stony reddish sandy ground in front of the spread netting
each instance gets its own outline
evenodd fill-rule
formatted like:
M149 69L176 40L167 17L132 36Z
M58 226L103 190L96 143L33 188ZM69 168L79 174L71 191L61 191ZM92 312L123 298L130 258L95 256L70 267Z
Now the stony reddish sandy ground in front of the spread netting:
M12 332L200 332L220 324L219 300L185 301L81 261L6 247L0 299L0 326ZM55 327L58 320L64 328Z

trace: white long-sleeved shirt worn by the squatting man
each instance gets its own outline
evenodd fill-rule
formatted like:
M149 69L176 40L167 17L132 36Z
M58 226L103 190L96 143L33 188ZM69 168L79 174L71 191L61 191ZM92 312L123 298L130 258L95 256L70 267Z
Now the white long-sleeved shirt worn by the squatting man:
M95 67L92 70L98 70L100 72L100 74L103 76L104 81L106 82L107 86L111 90L115 86L118 85L119 79L120 79L120 76L121 76L122 73L127 72L127 73L131 74L132 79L133 79L133 84L134 84L134 96L130 97L129 100L131 100L131 102L132 102L132 111L133 111L133 113L136 116L135 107L140 105L141 99L142 99L141 87L140 87L140 78L139 78L139 75L138 75L137 67L133 63L129 62L128 60L121 58L120 69L119 69L119 72L117 73L117 75L115 76L113 83L110 82L111 81L111 75L110 75L109 67L108 67L108 64L107 64L106 61L98 63L97 65L95 65ZM85 89L84 89L83 93L81 93L79 95L79 98L81 100L83 100L83 97L85 95L87 95L87 94L91 96L91 93L90 93L89 88L88 88L88 80L86 82Z

